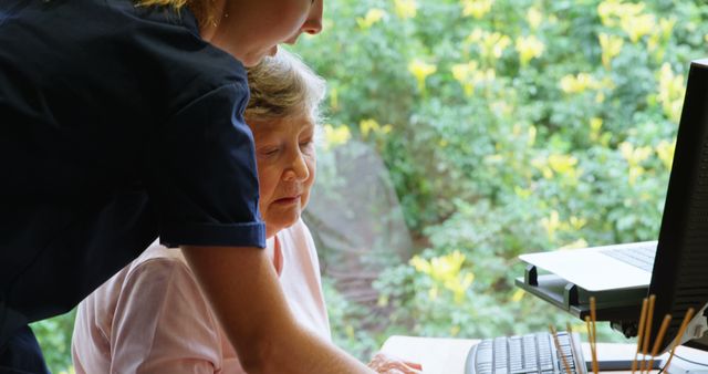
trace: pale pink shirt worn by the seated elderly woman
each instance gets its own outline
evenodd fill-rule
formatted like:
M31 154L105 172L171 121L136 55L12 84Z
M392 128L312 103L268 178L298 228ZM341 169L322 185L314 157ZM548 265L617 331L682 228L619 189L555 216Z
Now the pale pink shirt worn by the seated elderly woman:
M330 337L320 264L298 221L268 240L291 311ZM76 373L244 373L178 249L153 243L79 305Z

